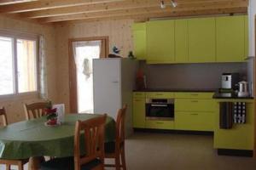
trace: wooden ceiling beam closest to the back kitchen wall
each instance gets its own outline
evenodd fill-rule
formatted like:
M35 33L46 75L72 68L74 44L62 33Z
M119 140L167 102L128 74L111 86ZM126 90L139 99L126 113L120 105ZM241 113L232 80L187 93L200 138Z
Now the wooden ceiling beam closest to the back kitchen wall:
M241 6L241 4L237 4L232 6L232 8L247 8L246 6ZM65 20L86 20L86 19L100 19L105 17L115 17L115 16L126 16L126 15L140 15L140 14L152 14L152 13L170 13L175 14L177 12L186 12L186 11L196 11L196 10L212 10L216 9L216 11L221 9L230 8L230 4L219 5L219 4L209 4L200 7L191 7L191 6L183 6L179 8L165 8L161 9L159 7L151 7L151 8L131 8L131 9L118 9L108 12L95 12L88 14L72 14L72 15L61 15L55 17L48 17L44 19L40 19L42 22L60 22Z

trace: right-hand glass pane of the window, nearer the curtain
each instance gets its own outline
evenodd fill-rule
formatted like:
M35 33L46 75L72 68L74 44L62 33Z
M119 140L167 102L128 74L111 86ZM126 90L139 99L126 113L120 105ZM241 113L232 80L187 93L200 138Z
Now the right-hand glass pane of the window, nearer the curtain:
M37 91L36 41L17 39L18 92Z

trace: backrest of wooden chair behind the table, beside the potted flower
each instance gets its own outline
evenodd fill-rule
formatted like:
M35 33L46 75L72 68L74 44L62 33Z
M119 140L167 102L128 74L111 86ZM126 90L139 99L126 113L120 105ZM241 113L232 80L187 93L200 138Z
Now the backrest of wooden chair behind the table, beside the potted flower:
M26 119L35 119L41 116L44 116L46 113L44 111L45 108L49 105L48 102L38 102L32 103L30 105L24 105L24 110L26 114Z

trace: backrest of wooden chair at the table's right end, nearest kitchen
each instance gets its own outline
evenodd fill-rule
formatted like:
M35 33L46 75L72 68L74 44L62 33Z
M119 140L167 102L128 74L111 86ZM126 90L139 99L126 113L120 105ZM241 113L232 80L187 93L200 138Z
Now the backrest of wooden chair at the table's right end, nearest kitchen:
M124 105L122 109L119 109L116 119L116 132L115 142L116 149L119 148L120 144L125 144L125 112L127 105Z

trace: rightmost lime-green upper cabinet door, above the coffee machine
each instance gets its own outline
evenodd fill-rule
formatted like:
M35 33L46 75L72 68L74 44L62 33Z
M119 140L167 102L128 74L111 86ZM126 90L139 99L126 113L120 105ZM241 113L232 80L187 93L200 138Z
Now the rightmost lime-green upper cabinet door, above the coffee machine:
M217 62L245 59L245 16L216 18Z

